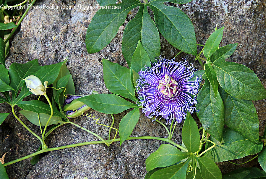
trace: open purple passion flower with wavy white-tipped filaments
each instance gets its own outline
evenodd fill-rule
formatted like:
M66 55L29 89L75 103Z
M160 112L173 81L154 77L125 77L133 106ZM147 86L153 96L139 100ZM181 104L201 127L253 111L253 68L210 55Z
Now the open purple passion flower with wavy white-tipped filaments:
M197 71L184 62L175 62L174 59L157 60L152 67L145 67L140 71L137 81L137 93L142 112L148 118L161 116L166 123L171 120L181 122L187 111L193 112L197 104L196 95L199 88L199 78L189 81L193 72ZM193 98L191 96L194 96Z

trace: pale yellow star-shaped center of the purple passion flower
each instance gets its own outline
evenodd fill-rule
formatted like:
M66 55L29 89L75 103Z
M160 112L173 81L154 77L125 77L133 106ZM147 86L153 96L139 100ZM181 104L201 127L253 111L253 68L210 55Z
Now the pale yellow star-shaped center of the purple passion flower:
M178 83L172 77L165 75L164 81L159 81L158 89L164 95L172 98L173 94L176 92L176 85L178 85Z

